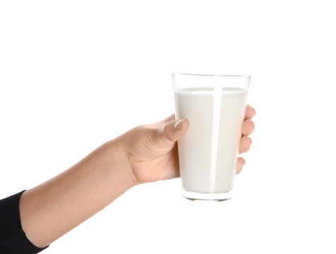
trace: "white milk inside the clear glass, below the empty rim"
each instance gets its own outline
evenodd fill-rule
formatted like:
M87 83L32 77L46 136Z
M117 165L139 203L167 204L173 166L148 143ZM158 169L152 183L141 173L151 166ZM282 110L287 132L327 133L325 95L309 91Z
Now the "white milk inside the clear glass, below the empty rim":
M224 193L232 189L246 97L245 90L232 87L175 92L176 119L190 121L188 132L178 141L186 191Z

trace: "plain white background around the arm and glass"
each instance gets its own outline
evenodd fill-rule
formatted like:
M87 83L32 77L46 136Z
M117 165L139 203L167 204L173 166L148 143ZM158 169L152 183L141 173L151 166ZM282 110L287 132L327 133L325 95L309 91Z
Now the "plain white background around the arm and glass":
M131 189L44 253L335 253L332 1L1 1L0 198L174 112L172 71L252 75L231 201Z

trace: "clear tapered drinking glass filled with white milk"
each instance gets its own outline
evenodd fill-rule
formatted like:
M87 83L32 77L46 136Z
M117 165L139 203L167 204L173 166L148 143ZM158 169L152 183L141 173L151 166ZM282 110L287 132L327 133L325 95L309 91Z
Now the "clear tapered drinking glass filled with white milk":
M177 142L183 195L229 200L251 77L172 73L172 78L176 119L190 121Z

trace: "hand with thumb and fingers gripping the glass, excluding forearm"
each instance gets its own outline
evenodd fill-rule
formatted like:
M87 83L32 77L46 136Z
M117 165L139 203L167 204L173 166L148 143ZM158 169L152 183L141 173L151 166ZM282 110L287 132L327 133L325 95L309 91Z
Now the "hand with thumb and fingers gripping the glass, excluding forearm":
M251 146L252 140L248 135L254 131L251 119L255 114L256 110L248 105L242 126L239 153L247 152ZM173 114L160 122L138 126L122 135L124 150L137 183L180 176L176 140L186 134L188 126L187 119L176 121ZM239 157L236 174L241 172L244 164L244 158Z

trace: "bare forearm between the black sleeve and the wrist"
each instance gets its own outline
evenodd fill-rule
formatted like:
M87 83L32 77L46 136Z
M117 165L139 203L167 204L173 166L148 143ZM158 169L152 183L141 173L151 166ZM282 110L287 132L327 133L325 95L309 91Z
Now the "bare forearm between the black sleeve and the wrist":
M70 169L23 193L23 230L35 246L47 246L109 205L135 180L121 140L109 141Z

